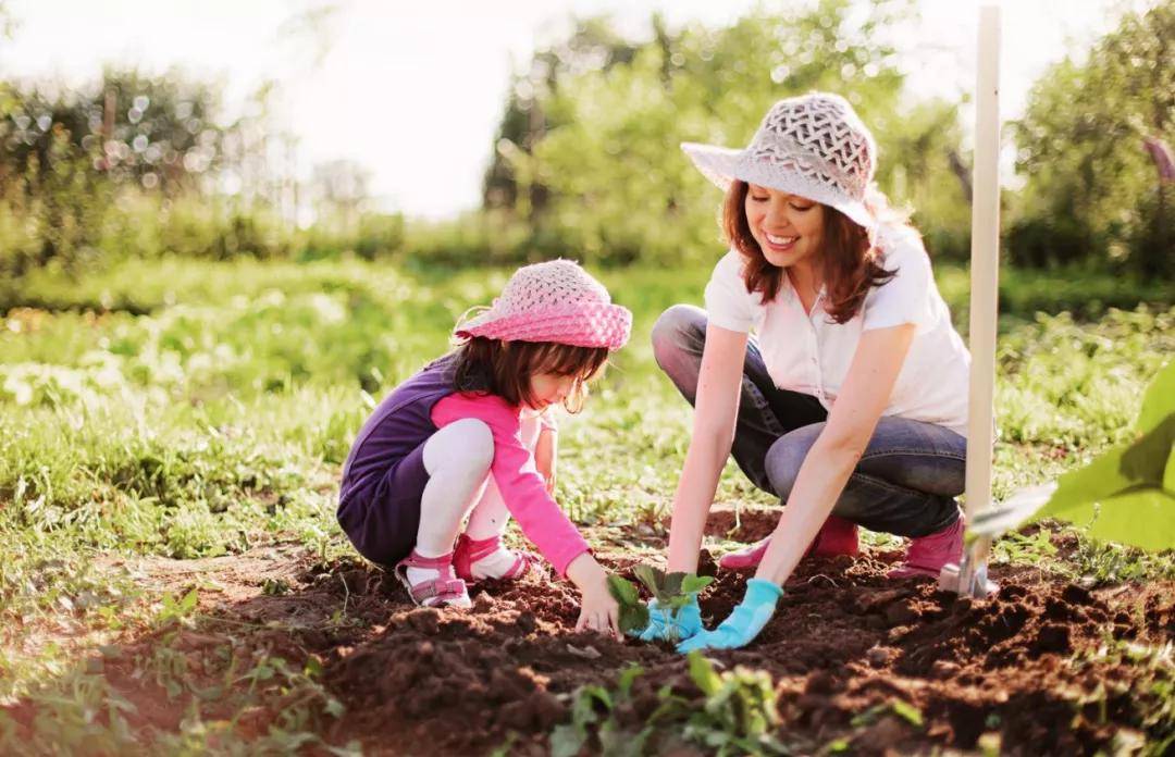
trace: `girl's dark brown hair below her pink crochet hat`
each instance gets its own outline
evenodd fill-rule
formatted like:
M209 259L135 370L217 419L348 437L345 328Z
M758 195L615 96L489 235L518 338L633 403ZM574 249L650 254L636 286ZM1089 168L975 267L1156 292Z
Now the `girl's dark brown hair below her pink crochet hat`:
M495 394L513 406L533 406L531 376L575 376L575 386L563 401L563 407L569 413L578 413L588 398L588 382L599 375L606 362L606 347L505 342L474 336L457 348L454 388L458 391Z

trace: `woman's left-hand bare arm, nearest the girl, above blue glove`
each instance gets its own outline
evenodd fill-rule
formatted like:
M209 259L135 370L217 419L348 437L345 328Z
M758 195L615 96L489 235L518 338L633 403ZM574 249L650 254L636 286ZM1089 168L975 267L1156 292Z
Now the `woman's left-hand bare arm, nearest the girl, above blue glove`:
M673 520L669 536L669 570L694 572L706 514L714 501L738 416L746 360L747 334L717 326L706 327L698 389L693 411L693 433L685 467L673 495ZM814 534L814 531L813 531Z

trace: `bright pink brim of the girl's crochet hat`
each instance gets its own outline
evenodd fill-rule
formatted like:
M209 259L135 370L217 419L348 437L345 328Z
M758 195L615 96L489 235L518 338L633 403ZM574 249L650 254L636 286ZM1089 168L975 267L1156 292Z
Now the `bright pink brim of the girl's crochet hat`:
M620 349L632 333L632 311L619 304L549 307L502 315L494 308L459 324L459 339L484 336L516 342L557 342Z

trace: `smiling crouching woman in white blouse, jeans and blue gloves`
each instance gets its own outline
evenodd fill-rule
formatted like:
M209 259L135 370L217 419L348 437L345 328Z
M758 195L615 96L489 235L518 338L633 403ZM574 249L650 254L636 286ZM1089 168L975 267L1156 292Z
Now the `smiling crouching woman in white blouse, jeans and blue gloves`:
M683 149L726 189L732 249L705 310L674 306L653 327L658 364L697 408L669 569L696 569L728 454L786 505L770 540L721 561L758 565L734 612L713 631L696 604L671 621L693 637L685 651L750 642L806 552L857 554L857 524L912 540L894 577L960 557L971 359L921 239L871 185L877 148L842 98L777 102L744 150Z

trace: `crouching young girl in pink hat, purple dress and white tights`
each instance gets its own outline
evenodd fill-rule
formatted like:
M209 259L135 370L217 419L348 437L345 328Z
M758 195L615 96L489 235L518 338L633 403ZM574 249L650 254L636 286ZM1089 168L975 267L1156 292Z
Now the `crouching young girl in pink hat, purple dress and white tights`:
M552 498L548 410L579 410L631 324L632 314L571 261L518 269L492 307L458 323L459 347L397 387L363 424L338 503L360 554L391 568L417 604L469 607L466 582L521 578L535 560L502 543L513 516L579 588L576 630L616 634L604 569Z

